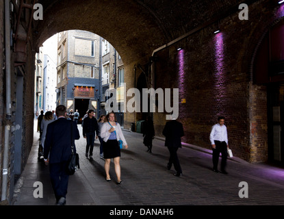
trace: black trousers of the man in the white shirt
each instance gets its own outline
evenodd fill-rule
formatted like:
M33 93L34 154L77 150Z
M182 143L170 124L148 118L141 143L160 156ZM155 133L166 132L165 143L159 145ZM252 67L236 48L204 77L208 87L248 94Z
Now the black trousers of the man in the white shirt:
M212 149L212 161L213 161L213 168L214 170L218 170L218 162L219 162L219 155L222 154L222 161L221 161L221 171L225 170L227 164L227 143L214 141L216 145L216 149Z

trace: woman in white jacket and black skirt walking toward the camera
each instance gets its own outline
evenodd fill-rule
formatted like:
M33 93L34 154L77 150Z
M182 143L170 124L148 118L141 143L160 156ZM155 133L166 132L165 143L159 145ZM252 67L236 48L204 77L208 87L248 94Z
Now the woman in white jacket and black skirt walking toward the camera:
M114 112L110 112L105 116L105 123L101 128L101 138L103 138L103 156L105 158L105 174L106 180L111 181L109 176L110 160L114 159L114 170L116 172L117 184L119 185L122 180L120 179L120 146L118 140L122 140L125 144L125 149L128 148L127 142L121 127L116 123L116 115Z

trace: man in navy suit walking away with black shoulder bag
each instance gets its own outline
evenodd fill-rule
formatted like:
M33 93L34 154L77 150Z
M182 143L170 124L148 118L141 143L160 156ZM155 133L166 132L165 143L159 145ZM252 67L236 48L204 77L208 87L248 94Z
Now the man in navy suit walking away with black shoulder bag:
M58 119L47 126L47 135L44 141L44 162L49 164L56 204L66 205L69 179L66 168L71 155L71 131L73 131L74 153L76 153L75 139L78 140L80 135L77 124L72 120L66 120L64 105L56 107L56 115Z

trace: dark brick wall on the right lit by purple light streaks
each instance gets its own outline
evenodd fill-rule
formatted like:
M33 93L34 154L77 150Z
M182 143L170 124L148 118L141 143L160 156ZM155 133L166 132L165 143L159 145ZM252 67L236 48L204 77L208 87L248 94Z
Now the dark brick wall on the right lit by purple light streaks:
M220 21L220 34L214 35L216 25L210 25L157 53L156 88L179 88L179 101L186 99L179 103L184 142L210 149L211 126L222 115L235 156L248 162L268 159L267 91L266 86L253 84L251 68L257 43L274 22L276 7L268 1L255 3L250 5L249 21L232 14ZM158 136L166 123L164 116L155 114Z

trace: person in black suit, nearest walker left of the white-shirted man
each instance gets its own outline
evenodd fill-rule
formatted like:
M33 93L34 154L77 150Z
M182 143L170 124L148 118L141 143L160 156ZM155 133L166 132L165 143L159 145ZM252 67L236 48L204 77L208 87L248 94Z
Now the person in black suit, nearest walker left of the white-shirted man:
M167 168L170 170L174 164L176 177L182 175L181 165L179 164L179 157L177 157L177 150L181 148L181 137L184 136L183 125L177 120L172 119L168 121L164 127L163 135L166 136L165 146L170 151L170 159Z

